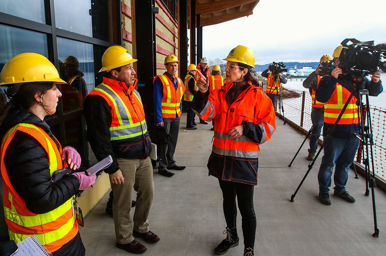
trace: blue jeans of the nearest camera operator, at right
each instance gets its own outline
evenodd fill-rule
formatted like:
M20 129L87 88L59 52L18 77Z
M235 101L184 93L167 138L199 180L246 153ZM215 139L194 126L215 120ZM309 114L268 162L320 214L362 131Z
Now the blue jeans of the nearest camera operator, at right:
M330 192L334 165L334 190L337 193L346 191L350 165L354 161L358 147L359 139L354 135L328 138L318 173L319 194Z

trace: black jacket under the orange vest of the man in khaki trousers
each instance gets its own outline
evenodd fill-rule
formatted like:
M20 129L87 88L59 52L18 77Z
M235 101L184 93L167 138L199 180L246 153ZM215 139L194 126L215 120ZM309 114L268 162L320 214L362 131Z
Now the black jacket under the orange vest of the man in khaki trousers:
M133 138L111 141L110 126L112 115L110 106L102 96L88 95L83 106L87 123L87 138L98 161L111 155L113 162L105 169L108 174L119 170L117 158L146 159L151 153L151 140L146 132L141 139Z

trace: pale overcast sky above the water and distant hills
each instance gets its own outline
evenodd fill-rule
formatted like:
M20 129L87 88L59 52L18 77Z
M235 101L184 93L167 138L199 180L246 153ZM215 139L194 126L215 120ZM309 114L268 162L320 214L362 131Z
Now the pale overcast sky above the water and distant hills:
M221 2L221 1L219 1ZM384 0L260 0L249 17L203 27L203 56L227 57L237 45L255 64L319 61L345 38L386 41Z

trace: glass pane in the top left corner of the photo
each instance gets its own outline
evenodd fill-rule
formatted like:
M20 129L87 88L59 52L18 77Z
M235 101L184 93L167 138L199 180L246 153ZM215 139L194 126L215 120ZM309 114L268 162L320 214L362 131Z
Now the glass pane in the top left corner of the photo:
M46 24L44 0L0 1L0 12Z

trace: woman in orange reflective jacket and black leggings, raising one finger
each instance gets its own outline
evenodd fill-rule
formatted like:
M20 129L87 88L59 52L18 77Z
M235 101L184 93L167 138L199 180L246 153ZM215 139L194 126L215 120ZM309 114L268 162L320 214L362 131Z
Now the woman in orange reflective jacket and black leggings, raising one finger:
M192 108L201 119L214 119L213 148L207 166L209 175L216 177L220 184L227 223L227 236L214 251L224 254L239 244L237 196L244 255L250 256L253 255L256 232L253 190L257 184L259 145L269 140L276 129L275 112L271 100L251 74L255 66L251 49L238 45L224 60L227 61L225 86L210 93L209 79L201 76L197 81L199 93L192 101Z

